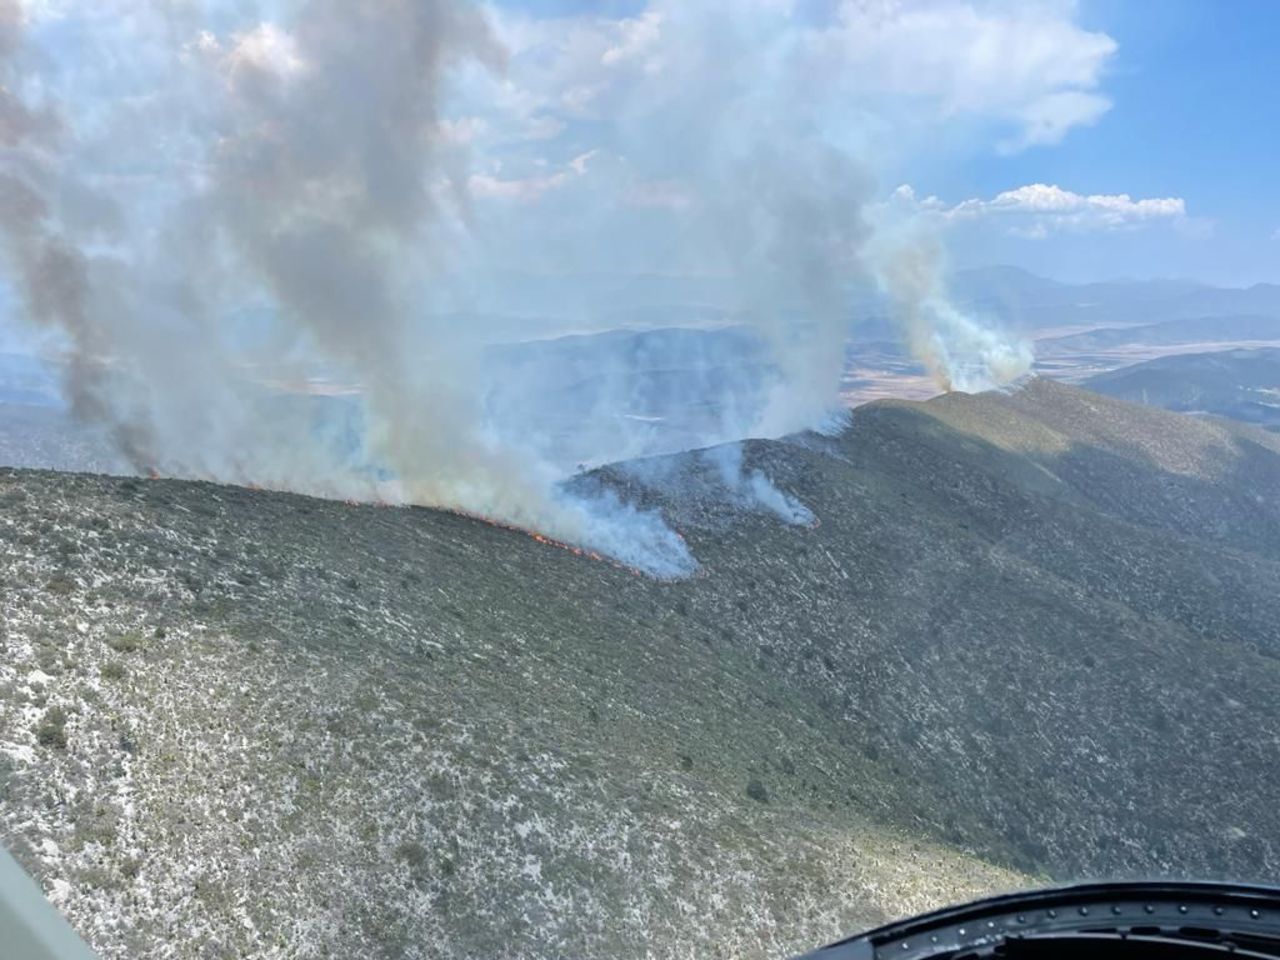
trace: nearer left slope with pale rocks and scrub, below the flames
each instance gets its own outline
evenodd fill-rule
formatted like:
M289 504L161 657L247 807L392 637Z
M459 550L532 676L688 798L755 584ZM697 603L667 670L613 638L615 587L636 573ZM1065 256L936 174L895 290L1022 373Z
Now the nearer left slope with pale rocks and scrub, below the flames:
M1027 882L877 819L887 762L692 584L431 511L0 499L3 840L106 956L776 956Z

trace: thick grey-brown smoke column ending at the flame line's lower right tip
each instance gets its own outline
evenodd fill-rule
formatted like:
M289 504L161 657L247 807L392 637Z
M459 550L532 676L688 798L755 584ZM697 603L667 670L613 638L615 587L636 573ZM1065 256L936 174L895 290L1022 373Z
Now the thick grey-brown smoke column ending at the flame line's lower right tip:
M484 19L449 0L312 0L297 23L207 44L230 91L214 206L288 316L357 375L403 497L685 570L684 543L657 518L557 494L554 474L486 442L477 344L417 301L444 259L431 189L442 72L499 64Z

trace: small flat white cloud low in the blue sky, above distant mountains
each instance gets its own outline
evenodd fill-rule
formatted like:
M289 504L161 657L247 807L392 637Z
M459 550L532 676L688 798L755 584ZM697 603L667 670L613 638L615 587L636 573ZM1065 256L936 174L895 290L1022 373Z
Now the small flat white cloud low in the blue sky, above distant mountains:
M1047 237L1059 232L1119 230L1152 223L1183 223L1187 204L1181 197L1134 200L1128 193L1074 193L1047 183L1006 189L991 200L972 198L948 205L938 197L919 198L904 184L892 202L940 220L961 223L991 220L1024 237Z

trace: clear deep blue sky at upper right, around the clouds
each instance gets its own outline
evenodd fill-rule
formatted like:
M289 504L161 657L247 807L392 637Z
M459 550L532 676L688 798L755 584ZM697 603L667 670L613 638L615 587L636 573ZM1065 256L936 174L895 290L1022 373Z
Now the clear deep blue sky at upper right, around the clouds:
M1194 225L1050 242L987 238L965 261L1020 262L1066 279L1280 280L1280 4L1094 0L1078 19L1117 44L1101 84L1111 109L1057 145L979 151L934 165L915 186L948 197L1032 182L1172 196L1185 200Z

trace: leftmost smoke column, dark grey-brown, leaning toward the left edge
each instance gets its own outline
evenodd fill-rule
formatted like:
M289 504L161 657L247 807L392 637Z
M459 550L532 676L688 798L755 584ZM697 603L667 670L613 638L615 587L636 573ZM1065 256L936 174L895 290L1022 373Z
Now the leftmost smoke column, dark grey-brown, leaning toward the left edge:
M215 232L184 180L189 157L155 148L156 131L180 140L202 99L180 83L148 90L150 111L99 114L105 132L83 138L65 115L73 105L54 97L46 51L24 46L27 27L22 6L0 0L0 238L23 312L60 334L73 415L102 428L138 472L367 492L324 451L297 444L305 429L291 417L253 408L219 339ZM120 179L95 178L86 156L145 172L141 193L116 202ZM170 195L160 219L148 204Z

